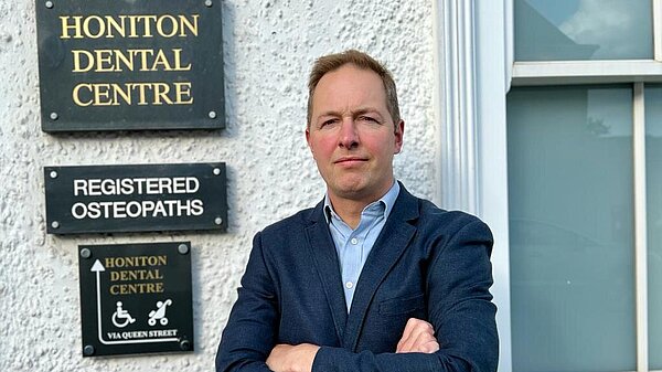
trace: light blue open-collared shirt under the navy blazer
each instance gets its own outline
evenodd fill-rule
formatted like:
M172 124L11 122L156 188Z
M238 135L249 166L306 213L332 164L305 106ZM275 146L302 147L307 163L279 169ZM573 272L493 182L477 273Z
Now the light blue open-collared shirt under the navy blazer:
M352 306L354 290L359 276L365 264L377 236L384 228L386 219L393 210L393 204L399 194L399 184L393 182L393 185L380 200L366 205L361 212L361 221L355 230L352 230L333 211L329 194L324 198L324 215L329 223L329 231L335 244L338 259L340 261L340 270L342 277L342 287L345 295L348 312Z

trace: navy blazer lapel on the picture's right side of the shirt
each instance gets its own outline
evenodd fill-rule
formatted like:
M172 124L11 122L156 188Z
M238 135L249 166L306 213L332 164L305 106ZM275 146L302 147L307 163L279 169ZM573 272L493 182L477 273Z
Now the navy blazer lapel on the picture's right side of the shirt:
M355 351L359 336L373 297L391 268L405 252L416 227L408 223L418 216L416 198L401 184L393 211L361 270L356 291L342 338L343 348ZM342 290L342 289L341 289Z

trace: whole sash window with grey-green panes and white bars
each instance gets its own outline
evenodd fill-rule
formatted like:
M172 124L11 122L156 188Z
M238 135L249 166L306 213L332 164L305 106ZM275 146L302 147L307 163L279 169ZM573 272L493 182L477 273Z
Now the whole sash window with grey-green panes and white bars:
M662 371L662 1L513 8L512 371Z

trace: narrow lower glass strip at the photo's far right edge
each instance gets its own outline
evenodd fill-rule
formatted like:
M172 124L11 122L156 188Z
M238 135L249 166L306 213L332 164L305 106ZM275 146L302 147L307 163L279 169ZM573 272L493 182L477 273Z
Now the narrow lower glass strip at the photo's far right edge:
M650 369L662 370L662 86L645 89Z

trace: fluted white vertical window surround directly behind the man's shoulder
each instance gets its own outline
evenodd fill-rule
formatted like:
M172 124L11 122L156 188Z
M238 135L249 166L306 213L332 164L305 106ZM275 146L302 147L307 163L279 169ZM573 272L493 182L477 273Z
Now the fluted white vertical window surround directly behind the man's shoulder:
M505 94L512 68L512 0L436 0L439 195L445 209L492 228L499 371L512 371Z

